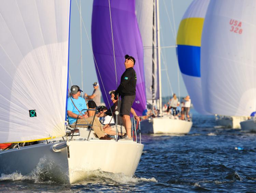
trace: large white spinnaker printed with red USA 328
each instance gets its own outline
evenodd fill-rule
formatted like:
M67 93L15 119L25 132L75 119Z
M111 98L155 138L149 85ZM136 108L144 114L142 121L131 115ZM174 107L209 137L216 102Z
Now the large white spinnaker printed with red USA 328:
M249 116L256 107L256 1L214 0L204 20L201 79L213 114Z

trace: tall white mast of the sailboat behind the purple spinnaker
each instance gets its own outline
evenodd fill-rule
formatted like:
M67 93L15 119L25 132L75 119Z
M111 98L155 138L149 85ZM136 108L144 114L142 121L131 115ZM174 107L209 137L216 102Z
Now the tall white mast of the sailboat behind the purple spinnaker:
M162 85L161 85L161 47L160 47L160 21L159 21L159 0L156 1L156 22L157 22L157 60L159 79L159 110L162 115Z

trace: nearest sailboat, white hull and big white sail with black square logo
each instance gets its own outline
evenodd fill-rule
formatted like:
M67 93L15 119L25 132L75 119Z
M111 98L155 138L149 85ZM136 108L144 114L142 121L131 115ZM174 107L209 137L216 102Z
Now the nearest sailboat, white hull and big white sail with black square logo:
M74 183L98 169L136 171L143 144L67 129L70 8L70 0L0 2L0 143L14 145L0 151L1 174L40 168Z

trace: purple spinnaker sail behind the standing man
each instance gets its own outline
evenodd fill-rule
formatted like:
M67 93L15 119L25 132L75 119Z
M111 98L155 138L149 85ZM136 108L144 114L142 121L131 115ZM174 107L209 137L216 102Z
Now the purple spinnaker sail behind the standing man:
M111 0L111 19L115 47L117 85L115 76L112 32L108 0L94 0L91 22L93 52L98 65L96 67L101 93L106 106L111 103L110 90L115 90L120 84L120 77L125 71L126 54L136 60L134 70L137 74L136 99L132 105L137 115L142 115L146 109L145 79L143 68L143 45L135 15L134 0ZM100 78L101 76L101 78ZM105 91L104 92L103 85Z

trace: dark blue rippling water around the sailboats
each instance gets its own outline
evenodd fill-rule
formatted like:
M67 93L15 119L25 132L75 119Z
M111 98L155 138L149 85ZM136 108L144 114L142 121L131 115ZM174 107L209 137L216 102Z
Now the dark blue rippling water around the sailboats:
M193 123L188 135L142 135L133 178L95 171L67 185L14 174L0 178L0 192L256 192L256 133L214 128L213 116L196 113Z

